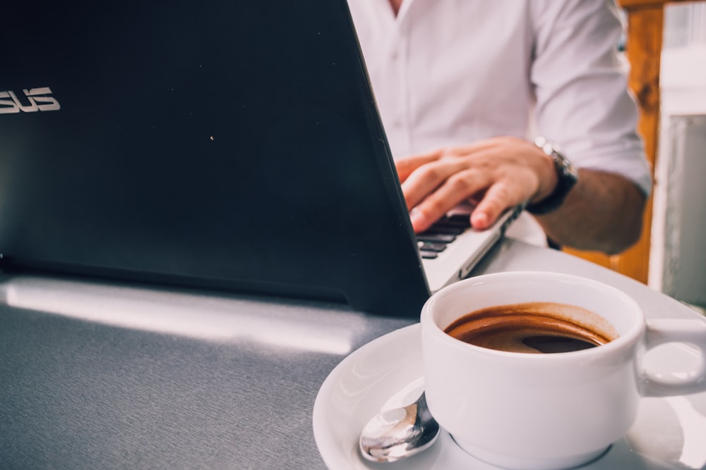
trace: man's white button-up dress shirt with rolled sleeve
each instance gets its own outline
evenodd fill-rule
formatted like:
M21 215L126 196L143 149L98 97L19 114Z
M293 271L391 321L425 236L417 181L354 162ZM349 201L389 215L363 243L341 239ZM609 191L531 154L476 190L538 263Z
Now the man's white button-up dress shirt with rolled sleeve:
M556 142L578 168L650 170L614 0L349 0L395 157L497 135Z

